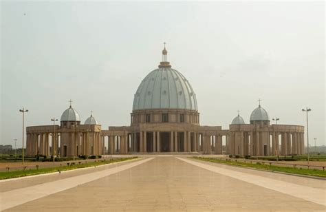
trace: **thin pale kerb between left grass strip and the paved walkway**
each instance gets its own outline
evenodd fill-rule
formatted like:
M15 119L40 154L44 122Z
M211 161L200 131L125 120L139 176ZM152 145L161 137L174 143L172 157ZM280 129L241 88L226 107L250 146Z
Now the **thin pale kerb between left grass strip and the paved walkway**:
M50 173L39 173L39 174L35 174L35 175L32 175L32 176L22 176L22 177L19 177L19 178L3 179L3 180L0 180L0 184L1 184L1 182L10 182L10 181L14 181L14 180L25 180L25 179L28 179L28 178L50 176L50 175L53 175L53 174L68 173L68 172L71 172L71 171L82 171L82 170L86 170L86 169L94 169L94 168L97 168L97 167L103 167L103 166L108 166L108 165L116 165L116 164L120 164L122 162L130 162L130 161L135 161L135 160L140 160L140 159L142 159L142 158L134 158L134 159L131 159L131 160L124 160L124 161L119 161L119 162L111 162L111 163L108 163L108 164L98 165L98 166L94 166L94 167L85 167L85 168L78 168L78 169L63 170L61 172L54 171L54 172L50 172Z

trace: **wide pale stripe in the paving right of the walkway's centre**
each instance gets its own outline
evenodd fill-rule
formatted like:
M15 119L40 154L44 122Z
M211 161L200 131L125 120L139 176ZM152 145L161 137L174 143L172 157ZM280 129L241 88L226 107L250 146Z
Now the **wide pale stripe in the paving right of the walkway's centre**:
M271 189L274 191L279 191L281 193L285 193L287 195L292 195L295 198L301 198L303 200L307 200L309 202L314 202L317 204L321 204L326 206L325 201L325 193L326 189L316 189L312 187L302 186L299 184L294 184L291 182L284 182L281 180L274 180L271 178L265 178L262 176L255 176L249 173L243 173L241 171L232 171L220 167L215 167L212 165L206 165L202 162L195 162L193 160L179 158L177 159L187 162L191 165L201 167L202 169L206 169L209 171L213 171L215 173L219 173L224 176L228 176L231 178L235 178L237 180L242 180L244 182L249 182L251 184L255 184L259 187L263 187L266 189Z

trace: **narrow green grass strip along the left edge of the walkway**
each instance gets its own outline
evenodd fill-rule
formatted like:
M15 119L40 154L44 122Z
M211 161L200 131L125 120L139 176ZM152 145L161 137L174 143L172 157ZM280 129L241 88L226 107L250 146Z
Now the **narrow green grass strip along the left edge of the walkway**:
M132 158L114 158L109 160L100 160L98 162L87 162L84 164L78 164L78 165L69 165L65 167L49 167L49 168L43 168L43 169L28 169L28 170L17 170L17 171L8 171L8 172L0 172L0 180L3 179L9 179L9 178L20 178L23 176L34 176L41 173L51 173L51 172L58 172L58 171L67 171L72 169L80 169L85 167L95 167L99 165L106 165L113 162L120 162L124 160L131 160L138 157L132 157Z

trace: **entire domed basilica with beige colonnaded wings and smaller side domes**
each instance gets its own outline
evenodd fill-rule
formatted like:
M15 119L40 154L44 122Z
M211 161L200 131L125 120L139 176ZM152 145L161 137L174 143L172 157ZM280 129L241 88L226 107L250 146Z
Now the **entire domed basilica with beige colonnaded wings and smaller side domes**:
M30 126L27 156L100 156L127 153L204 153L241 156L303 154L304 127L271 125L261 103L250 123L238 114L229 129L201 126L196 94L172 68L164 46L162 62L147 74L133 96L130 126L102 126L92 114L81 122L70 103L60 125ZM55 120L54 120L55 121Z

